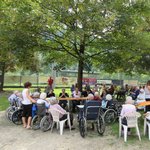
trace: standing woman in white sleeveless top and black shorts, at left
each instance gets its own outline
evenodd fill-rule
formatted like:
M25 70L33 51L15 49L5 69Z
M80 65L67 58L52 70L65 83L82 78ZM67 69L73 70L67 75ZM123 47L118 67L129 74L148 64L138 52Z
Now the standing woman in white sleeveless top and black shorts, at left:
M23 127L29 129L31 125L32 119L32 103L36 103L36 101L30 96L29 89L31 87L30 82L26 82L24 84L24 90L22 91L22 106L23 106L23 114L22 114L22 122Z

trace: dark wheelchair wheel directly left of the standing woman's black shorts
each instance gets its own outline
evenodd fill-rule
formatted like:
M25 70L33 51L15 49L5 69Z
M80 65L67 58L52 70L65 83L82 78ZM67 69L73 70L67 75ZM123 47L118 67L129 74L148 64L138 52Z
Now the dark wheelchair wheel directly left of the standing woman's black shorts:
M23 110L18 109L12 114L12 122L14 124L16 124L16 125L22 124L22 113L23 113Z

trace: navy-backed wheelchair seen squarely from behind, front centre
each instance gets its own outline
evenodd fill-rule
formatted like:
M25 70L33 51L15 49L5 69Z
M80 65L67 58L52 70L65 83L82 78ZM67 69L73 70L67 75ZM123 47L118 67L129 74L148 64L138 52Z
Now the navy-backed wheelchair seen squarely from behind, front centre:
M89 101L86 102L83 107L77 105L79 108L78 121L79 121L79 131L80 135L84 138L87 134L87 123L92 122L96 124L97 132L103 135L105 132L105 122L103 116L99 115L100 111L99 101Z

